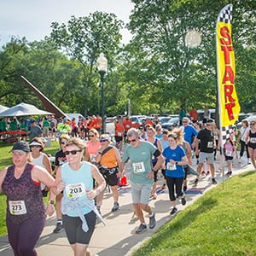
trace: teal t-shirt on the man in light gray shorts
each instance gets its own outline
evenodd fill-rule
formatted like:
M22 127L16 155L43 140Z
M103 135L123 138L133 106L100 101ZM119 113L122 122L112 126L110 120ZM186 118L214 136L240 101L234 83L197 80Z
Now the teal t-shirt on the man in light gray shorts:
M125 148L122 161L131 160L131 177L133 183L150 184L153 179L148 179L148 172L152 170L152 156L157 148L148 142L140 142L138 147L128 145Z

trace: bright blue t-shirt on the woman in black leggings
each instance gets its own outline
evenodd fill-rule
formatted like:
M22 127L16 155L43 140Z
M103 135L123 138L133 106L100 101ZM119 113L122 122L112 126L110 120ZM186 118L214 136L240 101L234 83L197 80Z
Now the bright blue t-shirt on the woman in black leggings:
M184 167L178 165L170 165L170 160L180 162L185 156L184 149L177 146L175 149L165 148L163 156L166 158L166 176L168 177L184 177Z

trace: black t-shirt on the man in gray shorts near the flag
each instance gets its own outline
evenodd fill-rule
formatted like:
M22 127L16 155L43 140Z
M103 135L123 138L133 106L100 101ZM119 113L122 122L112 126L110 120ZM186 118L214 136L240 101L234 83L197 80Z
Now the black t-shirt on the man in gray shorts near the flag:
M196 136L200 140L200 151L204 153L213 152L213 131L207 128L202 129Z

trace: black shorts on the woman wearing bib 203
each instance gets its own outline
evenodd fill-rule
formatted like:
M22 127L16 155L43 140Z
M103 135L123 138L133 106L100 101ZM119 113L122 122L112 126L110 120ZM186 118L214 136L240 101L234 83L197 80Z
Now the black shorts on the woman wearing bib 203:
M84 232L82 229L82 220L79 217L70 217L67 215L62 216L64 229L67 234L67 240L69 244L75 244L76 242L88 245L90 238L95 230L96 225L96 213L91 211L84 214L84 218L88 224L89 230Z

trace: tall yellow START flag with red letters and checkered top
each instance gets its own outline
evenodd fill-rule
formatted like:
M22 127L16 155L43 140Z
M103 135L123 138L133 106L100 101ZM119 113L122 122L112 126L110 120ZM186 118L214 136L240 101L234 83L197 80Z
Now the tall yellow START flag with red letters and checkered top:
M216 25L218 104L221 126L234 125L240 105L236 95L235 53L232 43L232 4L219 13Z

